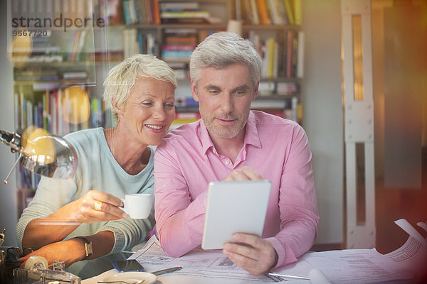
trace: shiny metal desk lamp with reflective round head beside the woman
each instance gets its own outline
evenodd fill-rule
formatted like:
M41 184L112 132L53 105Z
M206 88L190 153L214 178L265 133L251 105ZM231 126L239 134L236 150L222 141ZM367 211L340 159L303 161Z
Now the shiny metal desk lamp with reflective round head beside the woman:
M77 154L73 146L60 136L30 127L22 137L19 133L0 130L0 141L11 147L12 153L19 152L18 159L3 180L5 184L19 161L31 172L48 178L68 179L74 176Z

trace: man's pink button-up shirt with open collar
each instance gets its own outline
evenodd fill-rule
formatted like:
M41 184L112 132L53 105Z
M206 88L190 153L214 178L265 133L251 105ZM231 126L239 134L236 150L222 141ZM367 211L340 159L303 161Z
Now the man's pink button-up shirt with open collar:
M154 209L164 251L179 257L201 245L209 182L246 165L272 184L262 237L278 253L276 267L296 261L314 244L319 223L311 157L299 124L261 111L250 112L234 164L218 155L202 120L171 131L154 155Z

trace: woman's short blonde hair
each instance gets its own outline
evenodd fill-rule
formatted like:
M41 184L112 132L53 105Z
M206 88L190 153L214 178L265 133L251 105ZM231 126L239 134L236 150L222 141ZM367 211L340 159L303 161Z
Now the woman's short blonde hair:
M112 107L112 99L115 99L117 107L125 106L132 87L139 77L169 82L176 89L174 72L163 60L147 54L137 54L126 58L112 67L104 81L104 101L110 104L112 117L116 122L119 121L119 116Z

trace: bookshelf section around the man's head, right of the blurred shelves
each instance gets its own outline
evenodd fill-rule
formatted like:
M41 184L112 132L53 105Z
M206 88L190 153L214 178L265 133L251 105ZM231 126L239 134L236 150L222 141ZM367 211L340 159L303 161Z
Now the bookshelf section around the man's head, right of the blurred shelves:
M152 20L141 20L142 13L147 15L148 11L141 9L142 2L156 3L153 6L157 8L146 17ZM117 21L125 23L123 33L132 34L123 40L125 57L152 53L175 70L179 101L172 127L200 117L189 98L189 55L206 36L226 31L228 21L236 19L243 23L242 36L251 40L263 58L260 94L253 109L302 123L304 33L300 29L300 0L129 0L125 5L123 19Z

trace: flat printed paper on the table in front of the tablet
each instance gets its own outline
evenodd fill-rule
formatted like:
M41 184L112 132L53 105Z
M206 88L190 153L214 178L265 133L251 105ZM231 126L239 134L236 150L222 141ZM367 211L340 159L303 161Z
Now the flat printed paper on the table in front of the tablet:
M186 275L185 283L271 283L265 275L251 275L236 266L221 250L193 250L185 256L172 258L164 253L156 236L152 236L142 249L128 259L136 259L145 271L181 266L180 271L159 276L175 278ZM176 279L178 280L178 279ZM166 283L166 282L165 282Z

